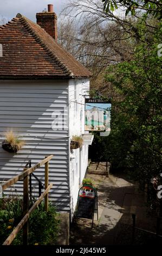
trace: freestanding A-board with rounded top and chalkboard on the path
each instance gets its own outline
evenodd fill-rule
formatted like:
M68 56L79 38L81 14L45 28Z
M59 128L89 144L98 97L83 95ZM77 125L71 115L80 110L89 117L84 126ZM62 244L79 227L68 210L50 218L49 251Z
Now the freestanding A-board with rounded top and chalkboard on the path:
M98 194L95 188L90 185L82 186L79 190L77 198L76 217L88 218L92 220L93 227L95 210L98 214Z

